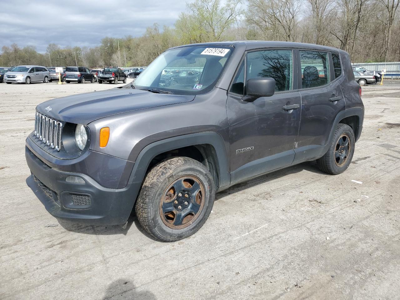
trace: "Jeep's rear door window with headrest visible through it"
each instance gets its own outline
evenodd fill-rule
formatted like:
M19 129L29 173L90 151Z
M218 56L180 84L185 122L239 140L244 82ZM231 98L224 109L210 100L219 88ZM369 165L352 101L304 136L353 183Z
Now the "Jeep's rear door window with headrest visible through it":
M329 82L328 53L300 50L302 88L323 86Z

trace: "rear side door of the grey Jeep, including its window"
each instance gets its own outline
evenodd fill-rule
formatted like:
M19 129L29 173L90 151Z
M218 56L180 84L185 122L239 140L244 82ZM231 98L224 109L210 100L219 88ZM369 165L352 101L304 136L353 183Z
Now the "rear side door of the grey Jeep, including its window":
M302 108L294 162L323 154L336 115L346 108L340 88L343 75L340 65L340 72L334 67L330 52L298 50L297 56ZM340 64L336 57L335 64Z

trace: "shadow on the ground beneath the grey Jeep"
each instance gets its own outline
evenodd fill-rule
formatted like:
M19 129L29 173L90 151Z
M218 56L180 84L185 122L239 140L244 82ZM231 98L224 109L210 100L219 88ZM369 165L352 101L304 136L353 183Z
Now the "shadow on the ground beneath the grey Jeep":
M229 194L234 194L237 192L240 192L242 190L245 190L247 188L252 188L254 186L257 186L259 184L265 184L268 183L271 180L276 180L279 178L282 178L284 176L290 175L290 174L295 174L298 172L301 172L303 170L307 170L313 173L317 174L324 174L326 173L320 171L318 167L316 166L316 162L303 162L301 164L291 166L288 168L284 168L279 171L271 172L262 176L258 176L254 179L247 180L245 182L241 182L238 184L235 184L231 186L230 188L227 188L226 190L223 190L222 192L219 192L215 196L215 201L218 201L220 198L227 196ZM71 232L76 232L76 233L82 233L82 234L95 234L95 235L116 235L116 234L124 234L126 235L128 233L128 230L132 225L134 225L138 230L147 236L148 238L155 240L152 236L150 236L145 230L143 230L142 226L140 225L140 222L138 218L135 216L135 211L134 209L132 210L128 222L123 225L86 225L86 224L76 224L74 222L64 220L64 219L57 219L59 224L68 231Z

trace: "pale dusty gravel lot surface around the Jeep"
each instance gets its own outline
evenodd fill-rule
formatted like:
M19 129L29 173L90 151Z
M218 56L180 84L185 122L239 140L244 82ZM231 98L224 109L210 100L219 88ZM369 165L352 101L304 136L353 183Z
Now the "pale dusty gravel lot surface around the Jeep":
M26 186L35 106L113 87L0 84L1 299L400 299L400 84L363 87L344 174L303 163L238 184L176 243L134 217L126 229L57 220Z

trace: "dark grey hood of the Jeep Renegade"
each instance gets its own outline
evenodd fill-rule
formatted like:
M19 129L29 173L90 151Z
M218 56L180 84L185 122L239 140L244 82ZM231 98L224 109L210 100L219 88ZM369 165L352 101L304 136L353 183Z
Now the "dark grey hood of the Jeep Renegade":
M48 100L36 110L61 121L84 124L144 108L190 102L193 95L169 95L130 88L115 88Z

